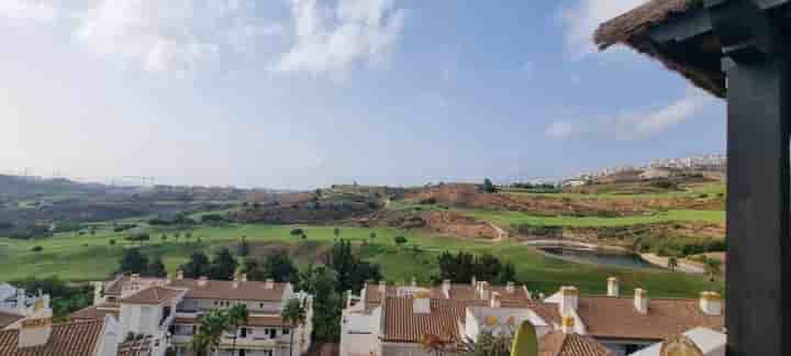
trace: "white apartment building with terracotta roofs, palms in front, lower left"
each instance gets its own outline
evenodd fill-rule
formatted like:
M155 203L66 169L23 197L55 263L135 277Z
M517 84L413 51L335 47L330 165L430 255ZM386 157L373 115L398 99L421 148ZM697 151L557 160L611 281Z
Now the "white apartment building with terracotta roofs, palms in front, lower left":
M177 355L191 355L190 344L202 315L234 304L245 304L249 316L236 333L223 335L218 355L289 356L291 351L297 356L310 347L312 297L296 292L290 283L250 281L245 275L233 281L189 279L179 271L168 278L120 276L96 282L94 290L93 305L73 313L71 320L118 318L124 335L132 333L151 341L153 356L164 355L167 348ZM280 318L291 299L303 302L308 316L304 325L291 327Z

